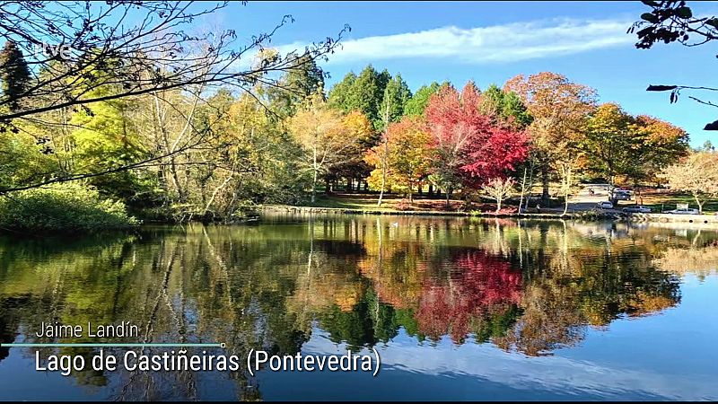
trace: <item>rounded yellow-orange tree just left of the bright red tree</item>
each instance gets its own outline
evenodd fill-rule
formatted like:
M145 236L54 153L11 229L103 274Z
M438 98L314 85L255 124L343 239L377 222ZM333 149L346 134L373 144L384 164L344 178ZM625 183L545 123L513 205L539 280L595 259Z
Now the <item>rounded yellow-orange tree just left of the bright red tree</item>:
M366 154L367 162L375 167L367 180L370 188L381 189L383 183L413 201L414 189L429 168L429 142L428 128L421 120L405 118L390 124L385 144L374 146Z

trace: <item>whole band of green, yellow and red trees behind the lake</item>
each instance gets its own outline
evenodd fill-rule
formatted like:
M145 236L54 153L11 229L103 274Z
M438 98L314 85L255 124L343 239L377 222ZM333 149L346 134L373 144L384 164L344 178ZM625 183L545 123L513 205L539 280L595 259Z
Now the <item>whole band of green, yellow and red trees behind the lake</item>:
M428 183L429 194L438 187L449 205L452 192L513 178L521 164L541 169L547 196L554 171L562 183L608 172L637 184L655 180L687 150L678 127L617 106L613 115L597 109L590 88L555 73L517 76L483 93L474 83L459 92L433 82L412 94L401 75L369 65L325 96L317 58L335 47L333 39L282 55L264 46L274 31L241 51L232 50L229 32L181 32L225 4L191 13L138 4L146 19L113 36L103 22L123 21L127 4L81 5L37 17L68 17L63 24L74 24L77 10L97 17L94 35L75 25L56 32L84 41L69 59L29 54L26 42L13 41L22 32L9 34L0 53L0 193L82 180L132 215L232 221L244 206L302 204L307 189L316 202L321 180L327 193L338 180L347 192L371 185L381 190L380 204L385 191L411 199ZM22 17L47 5L0 9ZM26 18L18 23L43 31ZM141 40L152 27L167 43ZM134 53L117 47L138 42L144 48ZM234 63L254 48L250 69Z

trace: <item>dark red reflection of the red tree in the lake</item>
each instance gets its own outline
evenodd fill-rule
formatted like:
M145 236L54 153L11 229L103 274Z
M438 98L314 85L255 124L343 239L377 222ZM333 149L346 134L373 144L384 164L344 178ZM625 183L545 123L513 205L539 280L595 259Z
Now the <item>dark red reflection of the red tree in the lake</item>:
M451 335L463 342L486 312L521 302L521 271L483 250L463 253L448 279L427 281L416 321L430 338Z

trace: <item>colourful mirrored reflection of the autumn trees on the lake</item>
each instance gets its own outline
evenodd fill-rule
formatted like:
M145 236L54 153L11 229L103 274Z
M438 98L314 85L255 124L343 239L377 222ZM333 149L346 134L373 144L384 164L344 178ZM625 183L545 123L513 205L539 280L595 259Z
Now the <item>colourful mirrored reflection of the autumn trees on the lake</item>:
M617 318L678 305L680 277L707 276L717 240L627 224L294 215L74 242L4 239L0 338L48 342L33 334L41 321L132 321L139 342L223 341L239 356L293 354L317 332L355 351L391 350L404 335L425 349L451 338L550 356ZM54 349L43 354L62 353ZM30 363L34 351L13 355ZM0 349L0 370L11 359ZM116 400L262 397L241 372L72 377L94 386L88 396Z

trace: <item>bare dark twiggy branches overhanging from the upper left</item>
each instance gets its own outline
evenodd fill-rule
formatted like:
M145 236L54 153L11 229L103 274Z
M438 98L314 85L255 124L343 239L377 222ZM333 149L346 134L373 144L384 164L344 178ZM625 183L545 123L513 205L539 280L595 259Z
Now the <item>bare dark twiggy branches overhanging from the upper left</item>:
M19 130L17 126L23 124L23 119L42 119L49 121L49 126L53 124L49 115L55 115L55 119L74 110L92 114L92 108L101 102L131 102L148 94L194 92L197 87L216 91L226 86L258 96L258 84L283 85L282 73L296 66L299 58L325 58L342 35L264 57L268 42L292 21L291 16L278 20L270 31L241 37L250 38L247 41L232 30L203 31L193 24L234 6L237 4L190 7L181 2L69 1L55 7L47 2L1 3L0 15L4 17L0 18L0 36L24 52L31 79L27 85L16 86L22 91L12 97L4 94L0 121L11 130ZM36 52L43 43L68 48L64 48L63 55ZM258 55L257 63L245 63L253 54ZM22 63L17 62L20 59L15 60L5 60L4 70L22 70ZM107 88L112 91L105 91ZM60 125L67 125L66 119ZM197 150L206 146L210 137L204 136L202 142L188 147L177 147L171 153ZM118 162L105 171L49 171L0 192L130 171L138 164L153 164L164 158L158 154L146 157L127 164Z

